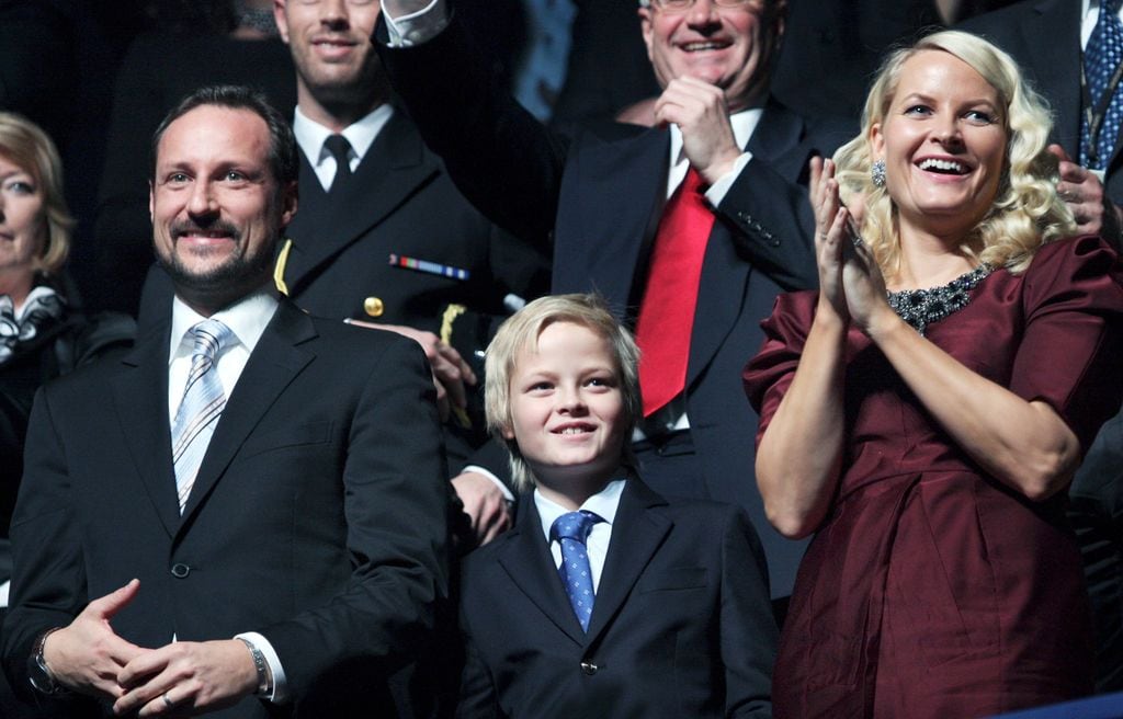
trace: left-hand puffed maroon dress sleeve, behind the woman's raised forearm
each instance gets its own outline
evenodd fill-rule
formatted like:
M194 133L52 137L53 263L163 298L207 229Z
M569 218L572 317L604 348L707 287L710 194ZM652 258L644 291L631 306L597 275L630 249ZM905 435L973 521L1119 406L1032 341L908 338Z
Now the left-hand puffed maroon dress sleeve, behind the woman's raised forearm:
M772 315L760 323L765 342L741 372L749 404L760 415L757 444L787 393L795 368L800 366L818 296L818 292L779 295Z

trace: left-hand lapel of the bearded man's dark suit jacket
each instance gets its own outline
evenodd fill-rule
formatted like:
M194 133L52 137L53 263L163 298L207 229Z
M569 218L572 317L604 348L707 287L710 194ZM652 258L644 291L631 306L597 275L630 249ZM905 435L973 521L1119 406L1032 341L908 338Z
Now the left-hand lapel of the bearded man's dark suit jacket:
M180 525L167 407L170 331L166 320L152 325L121 360L121 371L110 380L121 434L168 536Z

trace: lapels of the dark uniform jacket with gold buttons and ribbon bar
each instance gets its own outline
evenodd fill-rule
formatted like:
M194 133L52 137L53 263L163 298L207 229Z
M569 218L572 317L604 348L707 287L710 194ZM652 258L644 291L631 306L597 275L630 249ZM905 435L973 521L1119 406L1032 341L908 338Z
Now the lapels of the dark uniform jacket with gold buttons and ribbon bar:
M401 111L378 133L340 196L325 193L308 158L301 158L301 206L289 228L293 250L284 278L292 293L441 172Z

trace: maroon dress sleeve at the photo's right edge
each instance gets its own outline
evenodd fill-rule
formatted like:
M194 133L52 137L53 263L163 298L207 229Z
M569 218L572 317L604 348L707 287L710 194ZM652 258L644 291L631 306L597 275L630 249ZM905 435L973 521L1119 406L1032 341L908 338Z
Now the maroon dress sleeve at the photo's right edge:
M1022 303L1010 389L1052 406L1087 450L1123 397L1119 258L1096 237L1047 245L1025 271Z

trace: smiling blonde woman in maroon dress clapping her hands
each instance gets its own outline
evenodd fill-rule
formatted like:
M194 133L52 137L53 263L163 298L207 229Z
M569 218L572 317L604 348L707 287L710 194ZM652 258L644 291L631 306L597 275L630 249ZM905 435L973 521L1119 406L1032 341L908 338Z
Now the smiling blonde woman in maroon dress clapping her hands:
M1063 503L1120 405L1123 289L1114 252L1070 237L1049 129L1007 55L944 31L888 58L862 133L812 165L821 289L778 299L745 374L769 519L815 534L776 717L1090 690Z

